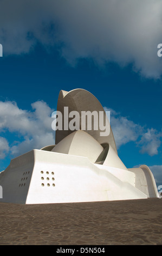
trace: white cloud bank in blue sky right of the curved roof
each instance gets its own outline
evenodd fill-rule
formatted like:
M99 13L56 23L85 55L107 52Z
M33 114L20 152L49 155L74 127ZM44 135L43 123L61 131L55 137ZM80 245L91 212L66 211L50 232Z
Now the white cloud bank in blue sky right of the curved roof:
M147 129L139 124L135 124L132 120L122 117L120 113L113 109L104 107L105 111L110 111L110 121L115 138L116 147L119 149L121 145L128 142L135 142L140 148L140 153L147 153L150 156L157 155L161 145L162 132L153 128Z

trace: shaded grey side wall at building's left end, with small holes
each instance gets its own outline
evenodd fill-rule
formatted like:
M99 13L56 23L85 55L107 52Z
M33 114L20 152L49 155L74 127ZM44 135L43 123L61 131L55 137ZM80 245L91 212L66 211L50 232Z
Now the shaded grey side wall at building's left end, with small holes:
M34 166L34 152L11 160L7 169L0 174L3 198L0 202L25 204Z

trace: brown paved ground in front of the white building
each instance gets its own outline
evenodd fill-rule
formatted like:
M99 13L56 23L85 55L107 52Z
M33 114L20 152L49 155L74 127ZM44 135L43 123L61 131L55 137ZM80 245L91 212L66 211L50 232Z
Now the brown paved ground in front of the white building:
M162 199L0 203L0 245L162 245Z

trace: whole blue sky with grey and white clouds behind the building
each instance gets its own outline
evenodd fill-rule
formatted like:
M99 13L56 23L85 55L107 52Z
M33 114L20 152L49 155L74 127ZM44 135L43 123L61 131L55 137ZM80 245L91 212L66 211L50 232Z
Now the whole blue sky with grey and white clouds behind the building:
M106 110L128 168L162 185L161 0L0 0L0 171L54 144L61 89L83 88Z

